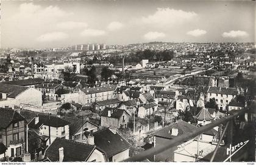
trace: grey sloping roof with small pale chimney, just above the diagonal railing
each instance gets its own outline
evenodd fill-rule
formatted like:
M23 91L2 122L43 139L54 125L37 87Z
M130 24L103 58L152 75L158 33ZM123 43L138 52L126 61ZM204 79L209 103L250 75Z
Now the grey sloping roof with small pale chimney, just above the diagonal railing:
M171 124L170 126L163 127L160 130L157 130L156 132L152 133L154 136L159 136L162 138L167 138L167 139L173 139L176 138L177 136L171 135L171 130L172 128L178 129L178 135L183 135L184 133L187 132L193 132L193 130L198 129L196 126L193 126L191 124L188 124L185 121L178 121L177 123Z

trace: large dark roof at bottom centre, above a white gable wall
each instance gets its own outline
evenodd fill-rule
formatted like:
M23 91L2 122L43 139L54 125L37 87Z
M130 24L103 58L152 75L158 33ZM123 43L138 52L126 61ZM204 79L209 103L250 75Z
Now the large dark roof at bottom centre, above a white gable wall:
M121 135L113 133L108 128L94 132L91 135L94 136L94 144L104 150L108 158L132 146Z

